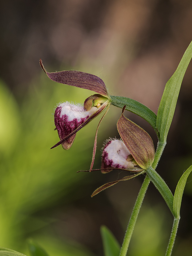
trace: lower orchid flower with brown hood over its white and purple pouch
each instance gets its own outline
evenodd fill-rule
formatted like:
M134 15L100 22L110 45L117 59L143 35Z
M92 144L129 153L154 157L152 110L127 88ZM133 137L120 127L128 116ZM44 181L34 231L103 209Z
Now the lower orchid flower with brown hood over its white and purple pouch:
M123 170L136 172L136 174L108 182L97 188L92 193L92 196L97 195L119 181L130 180L144 173L154 161L155 148L153 140L140 126L123 115L124 110L125 106L117 122L117 130L121 140L109 139L106 141L102 151L101 169L97 170L101 170L102 173L108 173L112 170Z

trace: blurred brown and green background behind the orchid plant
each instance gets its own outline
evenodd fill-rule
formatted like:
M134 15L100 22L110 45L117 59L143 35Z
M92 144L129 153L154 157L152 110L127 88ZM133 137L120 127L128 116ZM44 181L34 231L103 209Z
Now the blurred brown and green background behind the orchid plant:
M58 142L57 103L84 102L92 94L50 81L50 71L74 69L103 79L113 95L147 105L155 113L168 79L192 40L190 0L7 0L0 9L0 246L25 254L27 239L50 256L103 255L100 226L122 243L144 177L120 182L99 195L100 185L122 177L88 170L100 117L76 135L72 148ZM172 192L192 164L192 64L181 86L176 113L158 172ZM100 148L119 137L121 109L111 107L98 133ZM127 117L148 131L141 118ZM192 181L188 178L173 255L192 253ZM172 215L158 191L148 188L128 255L164 255Z

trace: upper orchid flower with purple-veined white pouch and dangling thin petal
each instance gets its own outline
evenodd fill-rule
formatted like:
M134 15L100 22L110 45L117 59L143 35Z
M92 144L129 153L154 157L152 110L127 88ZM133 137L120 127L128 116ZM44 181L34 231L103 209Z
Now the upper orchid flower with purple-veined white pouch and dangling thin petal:
M78 132L85 124L91 121L94 117L98 116L106 107L108 107L96 130L93 157L90 167L91 171L96 152L98 128L103 117L107 114L111 102L105 83L98 76L80 71L68 70L49 73L45 70L41 59L40 65L45 74L52 81L88 89L97 93L88 97L84 101L84 106L65 102L61 103L56 108L54 121L60 141L52 148L55 148L61 144L64 149L69 149L75 140L76 132Z

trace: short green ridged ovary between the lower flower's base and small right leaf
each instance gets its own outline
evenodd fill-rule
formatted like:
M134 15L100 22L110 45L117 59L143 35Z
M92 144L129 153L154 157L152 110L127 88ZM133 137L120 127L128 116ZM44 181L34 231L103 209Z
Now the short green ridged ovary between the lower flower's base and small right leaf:
M161 176L151 166L146 170L146 172L150 180L153 182L155 187L163 196L169 209L173 213L173 195L171 193L171 190L169 189L167 184L164 182L164 180L161 178Z

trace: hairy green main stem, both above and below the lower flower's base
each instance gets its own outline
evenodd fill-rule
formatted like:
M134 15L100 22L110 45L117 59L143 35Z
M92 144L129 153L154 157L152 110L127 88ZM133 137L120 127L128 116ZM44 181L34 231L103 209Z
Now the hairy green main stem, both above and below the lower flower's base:
M161 155L163 153L165 145L166 145L166 143L161 143L161 142L159 142L158 145L157 145L154 162L152 164L152 167L154 169L156 169L156 166L159 162L159 159L161 158ZM141 207L141 204L142 204L143 199L145 197L145 194L146 194L149 183L150 183L150 179L149 179L148 176L146 176L145 180L143 181L143 184L140 188L140 192L138 194L135 205L133 207L132 215L130 217L129 224L127 226L127 230L125 232L124 241L123 241L119 256L126 256L128 246L129 246L129 243L130 243L130 240L131 240L131 236L132 236L132 233L133 233L133 229L135 227L135 223L136 223L139 211L140 211L140 207Z

